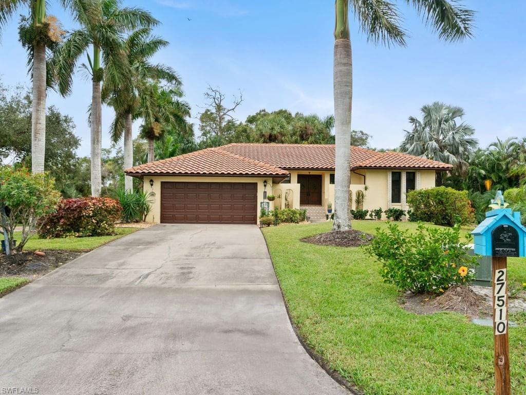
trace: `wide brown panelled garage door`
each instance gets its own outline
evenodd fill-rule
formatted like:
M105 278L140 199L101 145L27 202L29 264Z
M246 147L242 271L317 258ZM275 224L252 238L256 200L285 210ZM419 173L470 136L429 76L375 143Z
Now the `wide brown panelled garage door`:
M255 224L256 221L256 183L161 183L162 223Z

